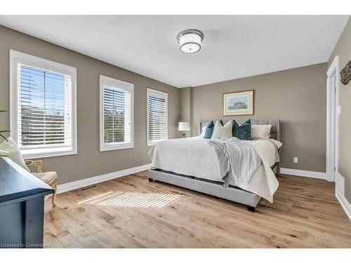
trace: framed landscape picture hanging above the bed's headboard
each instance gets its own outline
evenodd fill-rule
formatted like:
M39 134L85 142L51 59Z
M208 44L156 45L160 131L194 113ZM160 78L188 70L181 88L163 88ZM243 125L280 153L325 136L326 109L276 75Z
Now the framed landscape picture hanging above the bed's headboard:
M253 91L223 94L223 116L253 115Z

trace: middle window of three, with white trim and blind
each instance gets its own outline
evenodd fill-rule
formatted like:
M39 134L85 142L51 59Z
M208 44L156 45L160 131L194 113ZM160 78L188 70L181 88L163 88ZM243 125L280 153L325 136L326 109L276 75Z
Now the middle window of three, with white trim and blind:
M100 151L134 147L134 85L100 75Z

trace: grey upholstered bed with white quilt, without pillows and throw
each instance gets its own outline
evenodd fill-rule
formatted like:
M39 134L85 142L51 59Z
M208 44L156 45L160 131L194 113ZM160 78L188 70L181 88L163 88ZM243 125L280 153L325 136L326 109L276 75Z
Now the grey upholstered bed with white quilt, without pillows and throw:
M256 149L262 165L253 174L248 184L234 179L229 186L223 187L223 180L218 177L218 164L213 155L213 147L206 139L191 137L159 142L152 147L152 168L148 170L150 182L159 181L184 187L204 194L224 198L246 205L255 211L260 198L272 202L278 181L275 175L280 173L280 150L277 142L281 140L280 121L276 119L252 120L252 124L271 124L270 140L253 140L250 144ZM208 122L199 123L199 134ZM281 146L281 144L280 144ZM272 156L275 154L275 157ZM230 177L232 178L232 177Z

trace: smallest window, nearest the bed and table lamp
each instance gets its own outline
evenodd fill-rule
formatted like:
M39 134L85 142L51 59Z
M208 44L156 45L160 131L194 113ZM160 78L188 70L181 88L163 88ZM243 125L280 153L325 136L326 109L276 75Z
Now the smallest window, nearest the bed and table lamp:
M168 138L168 95L147 88L147 146Z

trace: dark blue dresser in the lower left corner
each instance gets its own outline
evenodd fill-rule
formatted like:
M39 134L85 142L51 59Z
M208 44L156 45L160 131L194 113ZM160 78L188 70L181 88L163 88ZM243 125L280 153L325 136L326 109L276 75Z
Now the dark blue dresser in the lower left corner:
M53 189L0 156L0 248L42 248L44 196Z

